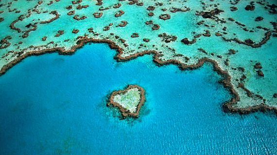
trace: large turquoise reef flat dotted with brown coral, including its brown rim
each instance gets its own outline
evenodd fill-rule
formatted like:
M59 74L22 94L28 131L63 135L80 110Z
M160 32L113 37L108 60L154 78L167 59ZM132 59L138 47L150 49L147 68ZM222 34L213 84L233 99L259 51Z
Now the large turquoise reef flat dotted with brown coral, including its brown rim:
M0 75L28 56L107 43L119 62L152 54L157 65L181 70L212 63L232 94L223 110L277 112L276 6L275 0L0 0Z

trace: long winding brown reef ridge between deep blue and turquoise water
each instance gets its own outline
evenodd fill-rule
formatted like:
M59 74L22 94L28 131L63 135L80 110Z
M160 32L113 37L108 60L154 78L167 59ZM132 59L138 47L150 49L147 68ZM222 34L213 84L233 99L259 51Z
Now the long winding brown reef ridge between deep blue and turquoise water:
M197 69L197 68L201 67L205 62L211 63L213 65L214 71L216 71L218 74L220 74L223 77L223 79L220 80L219 82L222 83L224 85L224 87L226 89L228 89L232 95L232 98L228 102L225 102L222 106L223 110L225 112L237 112L240 114L247 114L247 113L255 112L255 111L272 110L277 114L277 108L267 106L263 103L261 103L260 105L257 105L257 106L251 106L251 107L247 107L247 108L235 107L234 105L238 101L240 101L240 97L239 97L239 94L235 91L234 86L231 84L231 76L228 74L228 72L222 70L219 67L218 63L214 60L211 60L211 59L205 57L205 58L199 59L197 63L191 64L191 65L188 65L188 64L185 64L180 61L173 60L173 59L162 61L159 59L162 55L160 53L158 53L156 50L144 50L142 52L139 52L139 53L136 53L133 55L122 57L121 55L123 53L123 49L120 46L118 46L115 42L106 40L106 39L94 39L94 38L80 37L80 40L77 41L77 44L75 46L71 47L69 50L66 50L63 47L53 47L53 48L49 48L49 49L30 51L28 53L18 56L17 59L11 61L10 63L5 64L0 70L0 75L3 75L8 69L10 69L14 65L16 65L18 62L21 62L26 57L33 56L33 55L41 55L41 54L45 54L45 53L53 53L53 52L58 52L59 54L62 54L62 55L70 55L70 54L73 54L76 51L76 49L83 47L86 43L107 43L110 48L117 50L117 54L114 57L114 59L116 59L116 61L118 61L118 62L126 62L129 60L135 59L139 56L143 56L145 54L152 54L153 62L155 62L156 65L162 66L162 65L166 65L166 64L174 64L174 65L177 65L180 70Z

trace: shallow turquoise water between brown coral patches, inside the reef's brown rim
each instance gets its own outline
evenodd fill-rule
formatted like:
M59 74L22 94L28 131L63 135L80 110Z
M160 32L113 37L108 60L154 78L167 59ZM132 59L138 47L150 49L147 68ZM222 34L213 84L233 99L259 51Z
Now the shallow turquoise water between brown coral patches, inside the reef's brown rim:
M277 21L277 14L269 13L270 8L267 6L269 4L277 5L277 0L263 0L263 2L251 2L252 0L141 0L144 3L143 6L138 6L137 4L129 5L129 0L103 0L103 5L101 6L95 5L96 0L83 0L78 4L72 4L72 0L42 1L43 3L40 5L37 5L38 0L0 1L0 18L4 19L0 21L0 40L11 36L11 39L10 37L7 39L7 42L11 43L11 45L0 49L0 68L15 60L18 54L27 54L34 49L50 49L52 47L70 49L70 47L76 45L79 40L77 39L78 36L85 35L88 38L108 39L115 42L124 49L122 57L140 53L144 50L156 50L163 55L161 59L175 59L186 64L195 64L199 59L208 57L216 61L221 69L228 71L232 76L231 83L241 99L236 103L237 107L245 108L259 105L263 101L255 97L257 94L266 100L265 105L277 108L277 98L273 97L274 93L277 93L277 52L275 52L277 49L277 37L274 37L276 35L274 23ZM51 1L53 1L52 4ZM163 5L157 5L157 2L162 2ZM113 7L117 3L121 3L120 8ZM255 10L245 10L245 7L250 3L255 5ZM70 10L66 9L69 5L72 5ZM78 5L89 5L89 7L77 9ZM148 11L148 6L155 6L156 9ZM171 12L172 8L185 7L190 8L190 11ZM231 11L230 7L237 7L238 10ZM101 8L109 9L102 10ZM197 12L207 12L215 8L224 10L224 12L215 15L214 19L196 15ZM17 9L20 13L13 11L13 9ZM165 11L164 9L167 10ZM73 10L75 11L74 15L67 15L69 11ZM124 15L115 17L115 13L120 10L125 12ZM50 14L52 11L57 11L60 15L59 18L48 24L41 24L40 22L42 21L54 19L54 15ZM103 16L95 18L93 13L96 12L103 13ZM150 12L155 15L148 16ZM162 20L159 18L162 14L169 14L171 18ZM18 16L24 18L14 25L22 30L19 33L10 28L11 23L16 21ZM73 16L87 16L87 18L75 20ZM255 21L258 16L262 16L264 19ZM225 22L218 22L215 18L225 20ZM233 18L235 21L231 21L228 18ZM145 23L149 20L152 20L154 24L158 24L160 29L152 30L153 25ZM128 24L125 27L120 27L118 24L121 21L127 21ZM204 23L199 25L200 21ZM236 22L245 26L240 26ZM36 30L30 31L34 27L29 27L29 24L35 24L37 26ZM104 27L108 25L112 25L110 30L104 31ZM266 29L259 29L259 27ZM89 32L89 28L93 28L95 33ZM72 33L74 29L78 29L79 32ZM28 30L30 31L29 36L23 38L24 31ZM59 30L63 30L64 34L56 37L55 34ZM185 45L181 42L184 38L192 40L195 35L203 34L206 30L210 31L210 37L201 36L196 39L196 43L191 45ZM235 41L226 42L223 39L223 37L227 39L238 38L241 41L251 39L258 43L267 31L271 31L270 39L258 48L238 44ZM131 35L135 32L139 34L139 37L132 38ZM216 32L220 32L223 36L216 36ZM177 39L166 43L164 38L158 37L159 34L163 33L176 36ZM116 39L117 37L115 36L120 38ZM43 41L43 37L47 37L47 40ZM144 38L148 38L150 41L145 42L143 41ZM125 40L125 45L120 39ZM49 44L52 41L53 44ZM127 45L128 47L125 47ZM203 48L208 54L200 52L198 48ZM236 50L236 54L227 54L229 49ZM186 57L190 58L190 60L187 61ZM226 60L228 60L229 65L225 63ZM257 69L254 69L254 65L257 62L261 63L263 78L259 77ZM245 71L237 70L238 67L244 68ZM247 78L243 81L236 80L243 75ZM249 97L242 88L237 88L240 82L255 95Z

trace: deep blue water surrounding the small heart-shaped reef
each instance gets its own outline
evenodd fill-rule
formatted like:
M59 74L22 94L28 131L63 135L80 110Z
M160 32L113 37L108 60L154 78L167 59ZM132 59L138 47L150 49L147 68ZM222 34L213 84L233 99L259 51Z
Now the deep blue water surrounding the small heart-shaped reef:
M0 155L276 155L277 117L227 114L230 94L210 64L157 67L152 56L116 62L106 44L71 56L26 58L0 77ZM106 96L146 91L137 120L120 120Z

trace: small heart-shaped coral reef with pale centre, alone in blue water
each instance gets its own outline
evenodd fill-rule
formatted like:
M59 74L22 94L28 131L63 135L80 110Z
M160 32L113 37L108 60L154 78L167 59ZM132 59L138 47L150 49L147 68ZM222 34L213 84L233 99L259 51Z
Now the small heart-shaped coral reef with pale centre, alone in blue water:
M111 93L107 106L120 109L123 117L138 117L139 110L145 102L145 91L138 85L128 85L124 90Z

